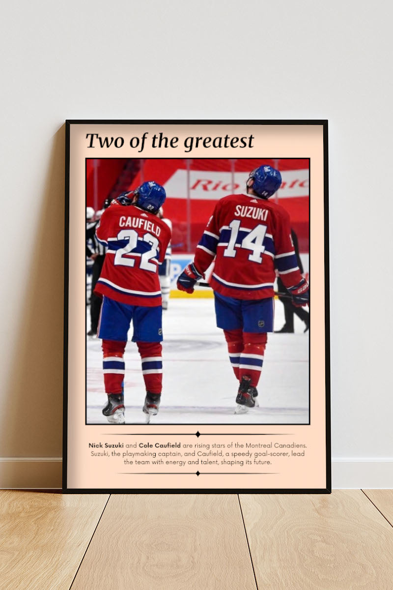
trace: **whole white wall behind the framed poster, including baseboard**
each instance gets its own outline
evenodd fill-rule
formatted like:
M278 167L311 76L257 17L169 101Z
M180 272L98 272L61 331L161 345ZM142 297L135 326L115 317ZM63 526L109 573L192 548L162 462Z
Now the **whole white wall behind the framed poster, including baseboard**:
M387 6L2 5L2 485L60 483L64 120L235 118L329 119L333 486L393 487Z

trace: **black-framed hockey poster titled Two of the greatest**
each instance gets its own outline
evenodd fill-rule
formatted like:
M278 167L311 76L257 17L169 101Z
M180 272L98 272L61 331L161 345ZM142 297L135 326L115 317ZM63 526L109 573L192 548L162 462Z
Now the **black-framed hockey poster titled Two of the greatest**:
M327 121L66 142L63 490L331 491Z

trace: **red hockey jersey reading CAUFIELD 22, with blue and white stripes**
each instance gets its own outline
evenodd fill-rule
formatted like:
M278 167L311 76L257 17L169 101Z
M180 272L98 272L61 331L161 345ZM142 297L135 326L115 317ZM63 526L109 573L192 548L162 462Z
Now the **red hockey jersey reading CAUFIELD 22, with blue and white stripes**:
M95 232L108 247L94 292L129 305L161 305L158 263L165 257L170 228L135 205L105 209Z

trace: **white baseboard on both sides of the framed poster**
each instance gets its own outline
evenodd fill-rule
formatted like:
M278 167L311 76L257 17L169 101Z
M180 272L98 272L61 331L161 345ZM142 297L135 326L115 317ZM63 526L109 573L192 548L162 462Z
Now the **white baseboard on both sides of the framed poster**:
M61 457L0 457L0 489L60 489ZM332 460L333 489L393 489L393 458Z

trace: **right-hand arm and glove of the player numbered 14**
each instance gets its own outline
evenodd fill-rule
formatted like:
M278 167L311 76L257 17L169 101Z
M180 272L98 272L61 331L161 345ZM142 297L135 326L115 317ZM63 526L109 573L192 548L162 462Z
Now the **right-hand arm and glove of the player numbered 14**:
M293 304L306 305L309 302L309 286L300 273L290 232L289 215L286 211L282 211L277 219L275 247L275 267L284 286L292 295Z

